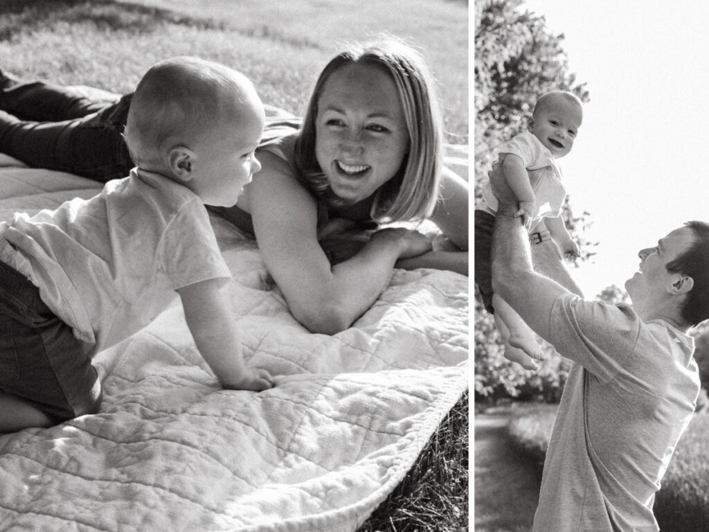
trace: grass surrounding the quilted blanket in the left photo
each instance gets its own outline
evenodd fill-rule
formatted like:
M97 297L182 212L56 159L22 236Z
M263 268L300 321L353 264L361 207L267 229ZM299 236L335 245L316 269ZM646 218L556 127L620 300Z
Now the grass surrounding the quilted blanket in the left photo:
M27 79L135 88L152 63L198 55L250 77L264 102L301 114L342 42L386 31L418 45L440 81L447 142L468 141L466 0L3 0L1 69ZM360 531L468 526L467 395Z

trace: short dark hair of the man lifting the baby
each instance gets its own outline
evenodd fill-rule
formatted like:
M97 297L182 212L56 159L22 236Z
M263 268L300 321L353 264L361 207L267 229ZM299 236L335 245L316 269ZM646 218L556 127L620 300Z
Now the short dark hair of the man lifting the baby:
M684 225L694 233L694 243L665 267L694 281L681 311L683 320L693 327L709 319L709 223L691 221Z

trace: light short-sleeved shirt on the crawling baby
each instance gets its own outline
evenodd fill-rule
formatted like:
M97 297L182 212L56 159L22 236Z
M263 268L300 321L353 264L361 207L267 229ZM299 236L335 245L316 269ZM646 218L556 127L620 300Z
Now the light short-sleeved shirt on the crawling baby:
M0 260L94 353L150 323L175 290L231 277L199 196L137 168L91 199L0 223Z

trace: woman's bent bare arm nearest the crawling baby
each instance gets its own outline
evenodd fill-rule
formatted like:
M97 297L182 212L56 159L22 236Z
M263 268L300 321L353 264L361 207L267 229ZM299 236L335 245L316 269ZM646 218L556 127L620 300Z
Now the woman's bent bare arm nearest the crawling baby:
M430 242L420 233L387 229L372 235L359 253L330 267L318 243L316 201L289 167L259 153L262 170L247 201L259 249L291 314L314 333L334 334L372 306L399 257L420 255Z

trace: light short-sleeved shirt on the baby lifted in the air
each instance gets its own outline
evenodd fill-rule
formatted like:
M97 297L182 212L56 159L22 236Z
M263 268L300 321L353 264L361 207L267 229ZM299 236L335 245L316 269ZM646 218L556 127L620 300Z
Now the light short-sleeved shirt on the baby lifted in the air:
M504 143L499 155L517 155L522 160L527 171L530 172L532 190L535 193L535 210L532 213L532 227L541 218L555 218L559 216L566 197L566 189L562 184L562 172L554 160L554 156L541 141L525 131L515 135L511 140ZM495 165L499 164L498 162ZM535 179L537 182L535 183ZM492 193L490 180L485 179L482 185L482 200L478 209L495 214L498 209L498 201Z

